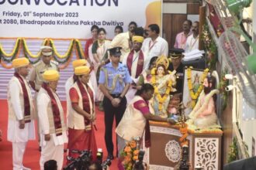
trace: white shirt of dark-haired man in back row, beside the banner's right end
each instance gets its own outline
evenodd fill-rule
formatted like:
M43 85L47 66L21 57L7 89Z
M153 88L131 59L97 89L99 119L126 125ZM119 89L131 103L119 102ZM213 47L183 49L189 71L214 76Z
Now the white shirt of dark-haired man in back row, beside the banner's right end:
M168 57L168 42L160 36L158 36L154 42L151 38L144 39L141 49L145 54L145 69L148 68L150 59L154 56Z

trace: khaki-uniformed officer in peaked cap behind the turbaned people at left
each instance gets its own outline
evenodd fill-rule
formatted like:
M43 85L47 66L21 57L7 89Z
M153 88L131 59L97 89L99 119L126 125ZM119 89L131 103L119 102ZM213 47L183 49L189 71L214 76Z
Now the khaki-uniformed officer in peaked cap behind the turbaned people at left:
M53 49L50 46L41 46L41 60L36 63L33 66L33 69L31 70L31 74L29 77L29 84L35 90L38 92L41 88L41 85L43 83L43 73L46 70L57 70L58 63L56 61L51 60L53 57ZM37 93L36 93L37 96ZM35 99L36 99L35 96ZM36 113L36 119L38 119L37 113ZM37 120L38 122L38 120ZM37 134L38 134L38 141L40 143L40 132L39 132L39 125L37 125ZM39 150L41 151L41 147L39 147Z

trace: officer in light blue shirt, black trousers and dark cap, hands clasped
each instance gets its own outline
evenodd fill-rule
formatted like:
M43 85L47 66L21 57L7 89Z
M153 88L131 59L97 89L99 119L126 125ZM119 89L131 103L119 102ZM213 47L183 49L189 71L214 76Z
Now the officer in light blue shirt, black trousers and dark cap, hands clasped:
M126 110L126 92L132 79L126 66L119 63L121 47L109 49L110 63L102 66L99 73L99 89L104 94L103 108L105 112L105 142L108 158L113 159L112 124L116 117L116 127Z

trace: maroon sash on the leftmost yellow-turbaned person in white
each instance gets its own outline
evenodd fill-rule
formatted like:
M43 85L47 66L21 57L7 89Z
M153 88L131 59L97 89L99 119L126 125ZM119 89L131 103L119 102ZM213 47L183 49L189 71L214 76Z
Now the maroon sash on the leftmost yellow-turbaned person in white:
M25 123L28 123L31 121L29 93L26 89L26 84L22 79L22 77L19 76L19 73L14 73L14 76L16 76L16 78L19 80L19 83L21 84L21 87L22 87L23 100L24 100L24 120L25 120Z

